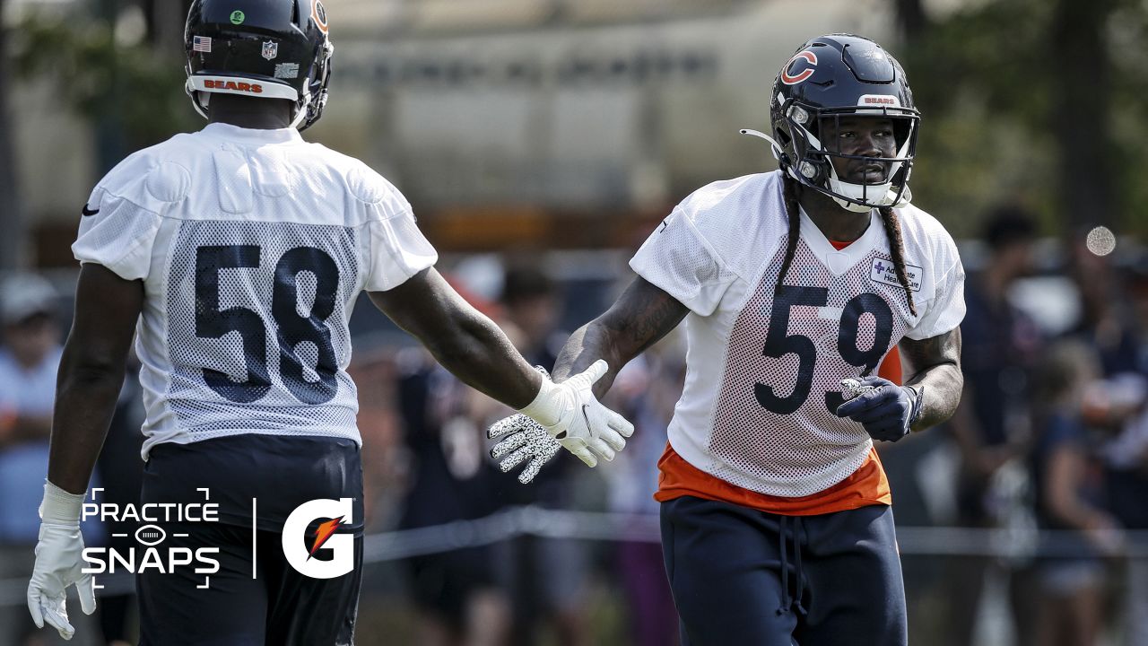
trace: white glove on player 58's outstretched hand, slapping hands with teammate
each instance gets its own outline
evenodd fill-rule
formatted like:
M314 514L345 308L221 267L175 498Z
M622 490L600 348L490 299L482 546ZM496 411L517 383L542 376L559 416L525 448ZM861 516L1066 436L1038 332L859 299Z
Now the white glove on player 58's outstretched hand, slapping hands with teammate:
M560 384L544 376L534 401L519 410L538 422L550 437L588 467L596 467L598 456L613 460L616 452L626 447L626 438L634 434L634 424L599 403L590 390L607 370L606 362L599 359L584 372ZM511 424L510 420L505 422ZM515 429L528 430L527 426L509 430ZM528 438L522 444L529 444Z

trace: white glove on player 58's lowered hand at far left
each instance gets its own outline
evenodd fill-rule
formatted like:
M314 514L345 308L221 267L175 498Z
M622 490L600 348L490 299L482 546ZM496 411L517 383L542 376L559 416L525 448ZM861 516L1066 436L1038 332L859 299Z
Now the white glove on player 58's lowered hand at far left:
M28 610L36 628L44 628L47 622L64 639L76 635L68 622L68 586L76 585L79 607L85 615L95 612L92 575L80 571L84 568L84 537L79 532L83 503L83 494L68 493L51 482L44 483L40 540L36 544L36 567L28 583Z

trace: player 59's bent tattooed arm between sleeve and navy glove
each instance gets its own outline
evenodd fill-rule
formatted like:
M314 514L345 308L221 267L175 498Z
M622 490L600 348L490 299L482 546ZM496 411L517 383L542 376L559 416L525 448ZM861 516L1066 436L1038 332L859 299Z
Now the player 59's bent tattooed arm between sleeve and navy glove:
M954 328L920 341L905 338L900 347L913 370L905 385L922 393L921 416L913 424L913 430L921 431L952 417L964 387L961 329Z

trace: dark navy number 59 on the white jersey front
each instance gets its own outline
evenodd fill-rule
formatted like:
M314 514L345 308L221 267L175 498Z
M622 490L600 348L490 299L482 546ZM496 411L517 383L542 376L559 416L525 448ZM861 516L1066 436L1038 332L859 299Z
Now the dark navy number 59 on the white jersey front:
M794 287L782 285L774 294L774 307L769 313L769 332L766 334L766 346L761 353L766 356L781 359L786 354L798 357L797 379L793 391L785 397L778 397L770 384L758 382L753 385L753 394L758 403L771 413L789 415L796 412L809 398L813 387L813 368L817 361L817 348L813 339L805 334L790 334L790 309L797 306L823 307L829 302L829 290L824 287ZM861 315L871 314L876 321L876 333L872 345L868 348L858 347ZM841 310L841 323L837 331L837 352L841 359L862 369L863 375L871 372L889 349L893 337L893 310L877 294L859 294L850 299ZM825 393L825 407L836 410L844 401L840 392Z

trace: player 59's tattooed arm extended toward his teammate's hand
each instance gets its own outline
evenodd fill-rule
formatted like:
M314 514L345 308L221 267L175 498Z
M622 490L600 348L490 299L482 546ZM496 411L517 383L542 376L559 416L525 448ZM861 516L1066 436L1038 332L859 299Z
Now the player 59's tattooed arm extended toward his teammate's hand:
M660 287L636 278L605 314L571 334L554 362L554 380L605 359L610 371L594 385L594 394L602 398L623 366L668 334L689 312Z

